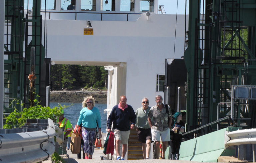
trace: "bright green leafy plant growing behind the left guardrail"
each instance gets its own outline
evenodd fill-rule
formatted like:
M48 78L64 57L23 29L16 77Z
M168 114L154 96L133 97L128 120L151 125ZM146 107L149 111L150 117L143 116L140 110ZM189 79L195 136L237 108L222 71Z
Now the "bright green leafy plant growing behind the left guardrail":
M19 104L17 100L12 101ZM20 127L26 123L27 119L47 119L50 118L54 122L56 122L56 117L60 116L61 110L65 109L68 106L55 106L54 108L45 107L39 105L39 101L37 99L34 100L35 106L30 106L29 108L23 108L21 112L19 112L16 108L9 116L6 117L6 124L3 128L10 129L13 127ZM22 104L23 106L23 104Z

